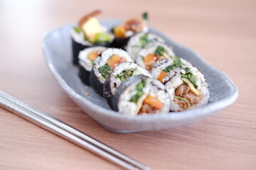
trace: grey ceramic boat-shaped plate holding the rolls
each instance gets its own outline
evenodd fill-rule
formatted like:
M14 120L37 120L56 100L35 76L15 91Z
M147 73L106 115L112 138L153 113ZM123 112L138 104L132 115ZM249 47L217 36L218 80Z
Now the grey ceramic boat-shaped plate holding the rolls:
M103 26L112 28L120 21L104 20ZM171 45L177 56L190 61L203 72L210 89L210 103L207 106L180 113L168 113L164 115L120 115L110 110L102 96L95 94L91 88L85 89L78 77L78 67L72 64L70 28L74 25L63 26L52 30L46 35L43 51L46 62L58 84L70 98L82 108L85 113L95 119L100 125L112 132L137 132L144 130L160 130L173 128L213 115L230 106L238 97L238 89L228 76L219 69L211 66L203 60L198 53L178 44L164 33L151 29L152 33L160 35L168 45ZM90 96L86 96L90 93Z

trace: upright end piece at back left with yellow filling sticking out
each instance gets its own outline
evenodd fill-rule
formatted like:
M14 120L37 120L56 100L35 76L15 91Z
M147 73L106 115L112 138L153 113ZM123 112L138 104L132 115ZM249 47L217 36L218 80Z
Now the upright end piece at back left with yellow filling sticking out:
M78 27L73 27L70 30L72 38L73 64L78 64L78 55L81 50L95 45L112 47L114 35L107 33L102 27L96 16L101 11L93 11L82 17L78 23Z

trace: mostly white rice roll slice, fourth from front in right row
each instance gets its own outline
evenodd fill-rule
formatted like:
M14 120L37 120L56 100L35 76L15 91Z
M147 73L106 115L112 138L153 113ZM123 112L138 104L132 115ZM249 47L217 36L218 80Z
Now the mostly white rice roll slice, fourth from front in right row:
M127 52L131 55L132 59L135 57L139 50L142 50L150 42L161 42L164 43L164 39L155 35L154 33L137 33L133 35L127 44Z

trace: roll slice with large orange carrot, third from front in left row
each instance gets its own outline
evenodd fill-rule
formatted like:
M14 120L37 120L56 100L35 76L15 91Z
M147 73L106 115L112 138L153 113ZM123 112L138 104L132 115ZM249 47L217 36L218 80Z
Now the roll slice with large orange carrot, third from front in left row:
M98 94L103 95L103 85L107 77L114 67L122 62L132 62L132 58L126 51L118 48L108 48L95 59L90 74L90 84Z

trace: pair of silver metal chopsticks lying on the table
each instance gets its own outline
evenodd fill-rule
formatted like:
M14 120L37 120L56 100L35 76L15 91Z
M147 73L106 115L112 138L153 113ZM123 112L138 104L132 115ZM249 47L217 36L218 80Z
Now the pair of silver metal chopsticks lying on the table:
M10 96L3 91L0 91L0 106L45 130L53 132L55 135L63 137L64 139L121 166L124 169L150 169L149 166L145 166L144 164L127 157L63 121L58 120L52 115L49 115L38 108L34 108L23 101L19 101L17 98Z

